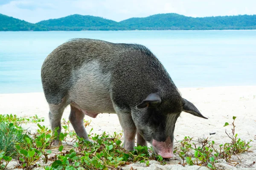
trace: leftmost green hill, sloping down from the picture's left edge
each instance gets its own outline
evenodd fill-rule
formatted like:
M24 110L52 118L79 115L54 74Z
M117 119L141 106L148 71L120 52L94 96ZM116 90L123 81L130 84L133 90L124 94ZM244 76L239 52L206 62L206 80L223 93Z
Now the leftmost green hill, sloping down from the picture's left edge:
M35 24L0 14L0 31L46 31Z

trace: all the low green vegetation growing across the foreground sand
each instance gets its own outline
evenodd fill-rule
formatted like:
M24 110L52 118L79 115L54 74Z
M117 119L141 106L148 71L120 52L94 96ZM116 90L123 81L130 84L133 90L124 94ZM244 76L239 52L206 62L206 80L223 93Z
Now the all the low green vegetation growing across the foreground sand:
M231 124L225 123L224 126L232 127L232 136L230 142L225 144L215 144L209 139L202 139L195 142L192 137L185 136L179 141L174 151L182 159L180 164L183 166L200 165L206 166L211 170L215 170L215 163L218 159L230 161L232 155L244 153L250 148L250 142L245 142L238 138L235 133L235 119ZM63 119L62 127L64 133L59 138L62 143L71 141L72 149L64 150L64 146L57 147L57 151L53 150L52 142L57 136L57 131L52 131L39 122L44 119L33 116L30 118L18 118L15 115L0 115L0 169L6 169L9 161L17 160L18 168L33 169L40 167L39 160L48 166L44 166L46 170L108 170L117 169L119 167L140 161L149 166L150 160L157 160L161 164L166 164L166 159L153 153L151 147L134 147L133 151L128 152L122 148L122 133L114 133L109 135L103 132L101 135L92 134L91 129L89 138L93 141L86 140L76 136L76 133L70 130L70 122ZM28 133L23 130L23 123L35 123L38 129L35 133ZM84 125L88 126L90 122L85 121ZM66 145L65 145L66 147ZM50 162L49 162L50 161Z

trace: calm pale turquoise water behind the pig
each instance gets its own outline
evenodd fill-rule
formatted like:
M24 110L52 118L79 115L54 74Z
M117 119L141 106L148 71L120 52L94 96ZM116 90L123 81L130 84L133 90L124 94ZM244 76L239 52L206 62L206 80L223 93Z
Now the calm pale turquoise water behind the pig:
M256 30L0 32L0 94L42 92L41 65L71 38L147 46L178 88L256 85Z

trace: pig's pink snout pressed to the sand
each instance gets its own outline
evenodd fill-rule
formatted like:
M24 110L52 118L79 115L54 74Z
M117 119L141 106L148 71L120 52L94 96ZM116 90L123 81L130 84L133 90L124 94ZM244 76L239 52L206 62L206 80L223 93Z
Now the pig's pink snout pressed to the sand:
M165 142L159 142L153 139L152 145L158 155L163 158L173 158L173 143L170 137Z

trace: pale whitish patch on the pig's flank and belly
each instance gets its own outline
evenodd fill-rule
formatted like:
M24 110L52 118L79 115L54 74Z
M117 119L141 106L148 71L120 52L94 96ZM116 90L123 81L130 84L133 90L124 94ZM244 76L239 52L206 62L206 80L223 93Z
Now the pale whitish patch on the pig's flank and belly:
M98 65L84 66L69 91L71 105L84 114L96 117L99 113L115 113L110 95L110 74L102 74Z

